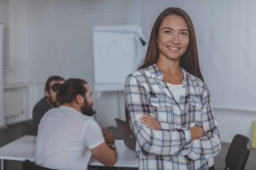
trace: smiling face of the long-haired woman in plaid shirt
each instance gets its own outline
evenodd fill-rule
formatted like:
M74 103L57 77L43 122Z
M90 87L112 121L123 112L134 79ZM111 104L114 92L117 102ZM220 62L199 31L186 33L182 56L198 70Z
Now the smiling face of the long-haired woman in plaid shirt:
M189 31L183 17L165 17L158 32L159 58L180 59L189 45Z

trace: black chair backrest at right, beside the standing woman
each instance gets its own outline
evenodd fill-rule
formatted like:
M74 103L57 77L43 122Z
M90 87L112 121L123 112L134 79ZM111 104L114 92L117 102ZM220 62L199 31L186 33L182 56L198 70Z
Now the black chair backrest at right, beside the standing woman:
M244 170L250 154L250 139L246 136L236 135L227 151L225 159L229 170Z

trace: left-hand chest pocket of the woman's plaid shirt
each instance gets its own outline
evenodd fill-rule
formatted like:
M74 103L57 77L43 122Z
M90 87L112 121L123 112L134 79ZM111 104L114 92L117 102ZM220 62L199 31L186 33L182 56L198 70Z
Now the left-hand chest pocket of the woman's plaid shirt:
M160 122L162 129L171 129L172 120L172 102L165 97L151 97L150 105L153 108L155 119Z

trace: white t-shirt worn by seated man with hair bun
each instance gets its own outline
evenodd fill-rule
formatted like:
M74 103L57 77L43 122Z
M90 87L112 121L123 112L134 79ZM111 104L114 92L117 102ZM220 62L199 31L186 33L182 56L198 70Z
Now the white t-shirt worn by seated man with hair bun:
M93 149L105 142L93 117L60 106L41 119L35 143L35 164L58 170L86 170Z

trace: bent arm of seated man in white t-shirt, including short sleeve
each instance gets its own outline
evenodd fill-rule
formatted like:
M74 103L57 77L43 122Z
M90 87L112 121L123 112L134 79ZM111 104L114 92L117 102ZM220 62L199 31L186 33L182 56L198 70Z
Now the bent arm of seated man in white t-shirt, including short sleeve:
M106 131L105 142L101 128L94 119L90 119L84 126L82 139L87 148L90 149L92 155L99 162L108 167L112 167L116 163L116 150L113 150L108 146L108 144L114 144L115 139L113 131Z

